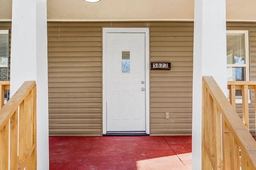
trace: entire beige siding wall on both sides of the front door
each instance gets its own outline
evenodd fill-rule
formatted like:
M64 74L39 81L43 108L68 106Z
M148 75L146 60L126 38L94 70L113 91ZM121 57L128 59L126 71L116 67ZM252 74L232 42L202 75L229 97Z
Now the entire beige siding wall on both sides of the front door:
M111 25L150 27L150 61L172 63L150 71L150 135L191 135L192 22L48 22L50 135L101 135L101 36Z

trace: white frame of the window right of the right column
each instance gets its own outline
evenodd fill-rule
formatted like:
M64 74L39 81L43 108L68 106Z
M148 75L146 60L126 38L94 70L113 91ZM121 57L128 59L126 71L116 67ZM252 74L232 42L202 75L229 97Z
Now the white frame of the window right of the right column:
M249 31L248 30L226 30L226 34L244 34L245 64L227 64L227 67L245 67L245 81L250 81L249 61ZM250 90L248 91L248 102L250 103ZM229 99L228 99L229 100ZM242 98L236 98L236 104L241 104Z

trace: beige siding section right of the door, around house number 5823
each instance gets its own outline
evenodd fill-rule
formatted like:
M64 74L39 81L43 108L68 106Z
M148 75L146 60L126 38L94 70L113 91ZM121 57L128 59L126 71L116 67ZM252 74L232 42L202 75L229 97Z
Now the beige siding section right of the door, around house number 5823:
M150 135L191 135L193 23L150 27L150 61L171 62L171 70L150 71ZM170 119L165 119L165 112Z

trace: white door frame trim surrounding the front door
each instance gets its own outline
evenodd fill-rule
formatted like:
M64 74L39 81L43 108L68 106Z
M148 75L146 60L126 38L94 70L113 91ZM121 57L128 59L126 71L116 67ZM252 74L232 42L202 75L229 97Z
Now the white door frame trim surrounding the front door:
M107 33L145 33L145 111L146 111L146 134L149 134L149 28L102 28L102 133L107 133L107 99L106 99L106 77L107 77L107 59L106 59L106 35Z

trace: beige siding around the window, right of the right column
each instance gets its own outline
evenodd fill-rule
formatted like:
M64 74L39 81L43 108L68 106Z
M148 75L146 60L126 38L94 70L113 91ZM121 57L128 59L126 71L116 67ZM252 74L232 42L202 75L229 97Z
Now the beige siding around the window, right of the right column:
M250 80L256 81L256 23L227 22L227 30L248 30L249 31L249 62ZM251 103L249 104L249 125L250 132L255 136L255 92L250 92ZM236 104L236 111L242 118L242 104Z

